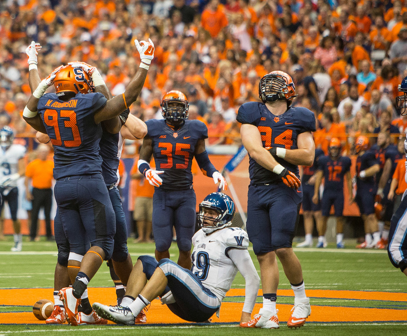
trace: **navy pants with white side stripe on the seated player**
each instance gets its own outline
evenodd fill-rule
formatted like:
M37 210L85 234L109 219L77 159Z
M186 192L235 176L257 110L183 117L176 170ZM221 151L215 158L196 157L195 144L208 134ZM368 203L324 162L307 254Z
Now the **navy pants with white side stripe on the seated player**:
M151 278L157 267L164 272L168 285L162 295L171 290L175 303L167 306L175 315L186 321L205 322L221 306L217 296L191 271L166 258L159 262L150 256L141 256L139 259L143 263L147 279Z

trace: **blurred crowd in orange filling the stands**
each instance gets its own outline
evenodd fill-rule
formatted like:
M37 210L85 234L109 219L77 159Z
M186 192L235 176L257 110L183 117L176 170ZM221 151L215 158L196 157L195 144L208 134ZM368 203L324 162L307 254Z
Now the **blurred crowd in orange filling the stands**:
M273 70L293 77L293 105L318 116L315 138L324 150L327 134L340 133L346 145L360 134L407 129L394 108L407 75L403 1L7 0L0 9L0 127L17 133L33 132L21 117L32 40L42 45L41 76L85 61L116 95L138 66L132 40L147 37L154 64L131 113L161 118L163 93L180 90L189 119L208 125L209 145L240 144L237 109L260 101L259 79Z

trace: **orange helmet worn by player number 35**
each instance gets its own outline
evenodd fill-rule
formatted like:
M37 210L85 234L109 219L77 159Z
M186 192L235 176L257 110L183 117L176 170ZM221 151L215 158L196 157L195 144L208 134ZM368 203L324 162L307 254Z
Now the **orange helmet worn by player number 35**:
M165 120L181 122L188 118L189 103L181 91L172 90L165 93L160 106Z

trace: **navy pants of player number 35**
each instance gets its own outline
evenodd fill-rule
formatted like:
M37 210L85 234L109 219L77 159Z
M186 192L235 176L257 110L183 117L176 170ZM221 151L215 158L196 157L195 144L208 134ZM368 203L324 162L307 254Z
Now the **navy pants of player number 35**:
M167 251L175 227L179 251L190 251L195 231L196 196L193 189L165 191L155 188L153 196L153 234L158 252Z

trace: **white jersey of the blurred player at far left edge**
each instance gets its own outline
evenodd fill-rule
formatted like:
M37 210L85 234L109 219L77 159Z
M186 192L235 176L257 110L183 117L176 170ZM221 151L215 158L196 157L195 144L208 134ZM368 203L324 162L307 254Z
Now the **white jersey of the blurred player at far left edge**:
M11 145L5 149L0 147L0 183L6 176L19 172L19 160L26 154L26 148L22 145ZM17 186L17 180L8 184L8 187Z

